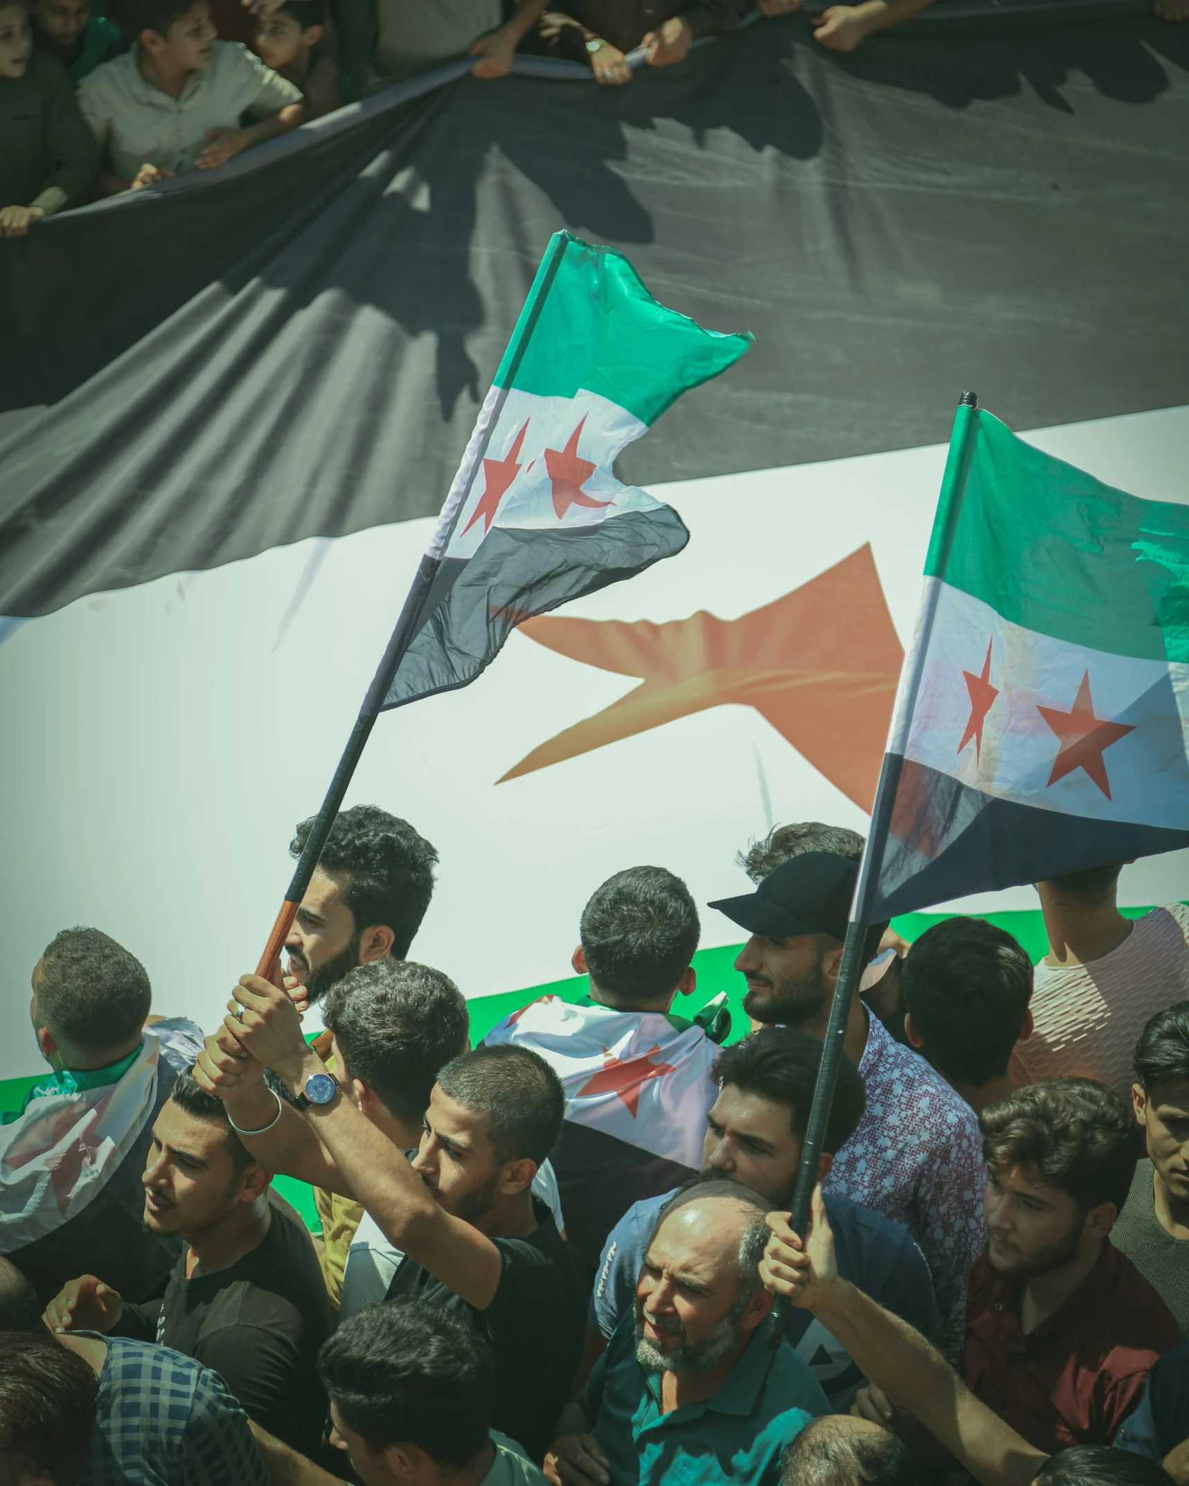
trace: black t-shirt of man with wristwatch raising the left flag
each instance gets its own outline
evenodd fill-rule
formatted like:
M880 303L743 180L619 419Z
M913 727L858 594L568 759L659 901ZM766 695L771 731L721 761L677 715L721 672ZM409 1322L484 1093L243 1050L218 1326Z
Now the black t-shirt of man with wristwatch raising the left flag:
M581 1361L590 1272L548 1208L535 1198L532 1207L535 1232L492 1239L504 1268L486 1311L467 1305L412 1259L392 1276L388 1299L419 1296L471 1317L495 1352L492 1427L540 1461Z

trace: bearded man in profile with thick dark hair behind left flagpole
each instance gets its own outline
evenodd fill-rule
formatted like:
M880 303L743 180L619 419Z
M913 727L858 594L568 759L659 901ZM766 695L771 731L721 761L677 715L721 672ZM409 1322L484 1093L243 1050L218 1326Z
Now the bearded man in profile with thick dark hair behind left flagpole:
M290 856L302 854L314 820L297 825ZM285 939L284 984L300 1012L355 966L409 957L434 893L435 866L434 847L400 816L379 805L339 811ZM330 1034L314 1046L328 1058ZM314 1189L314 1205L323 1224L323 1278L337 1308L363 1208L323 1187Z

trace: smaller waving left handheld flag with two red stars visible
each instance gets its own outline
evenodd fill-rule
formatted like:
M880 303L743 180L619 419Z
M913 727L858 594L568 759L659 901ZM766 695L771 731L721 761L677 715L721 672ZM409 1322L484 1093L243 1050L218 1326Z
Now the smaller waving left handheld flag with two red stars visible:
M522 620L681 551L676 511L612 462L749 345L658 305L623 254L556 233L422 563L419 632L383 706L465 687Z

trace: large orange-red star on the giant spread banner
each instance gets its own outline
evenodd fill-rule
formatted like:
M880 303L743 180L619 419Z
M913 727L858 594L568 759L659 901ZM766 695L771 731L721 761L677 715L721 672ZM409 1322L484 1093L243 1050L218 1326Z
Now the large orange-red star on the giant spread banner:
M535 747L517 779L664 722L728 704L755 707L849 799L871 810L904 651L871 547L737 620L528 620L520 633L641 685ZM499 780L502 783L504 780Z

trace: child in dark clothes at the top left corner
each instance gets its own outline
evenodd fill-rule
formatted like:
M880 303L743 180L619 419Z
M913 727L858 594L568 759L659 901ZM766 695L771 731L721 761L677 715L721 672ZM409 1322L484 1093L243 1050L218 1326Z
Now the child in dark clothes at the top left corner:
M0 236L86 199L98 149L65 70L33 51L28 12L13 0L0 0Z

